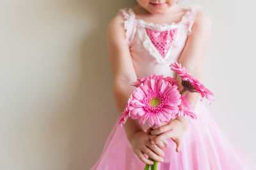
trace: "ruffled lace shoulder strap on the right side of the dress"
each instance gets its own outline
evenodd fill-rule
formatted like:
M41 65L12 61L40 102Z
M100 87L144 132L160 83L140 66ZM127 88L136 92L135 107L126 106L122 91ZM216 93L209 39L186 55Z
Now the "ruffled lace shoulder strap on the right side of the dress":
M202 6L200 4L189 5L189 10L184 17L184 22L188 26L188 35L191 33L191 27L195 22L196 13L199 10L202 10Z

